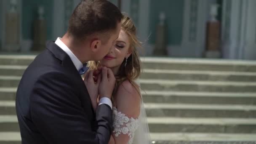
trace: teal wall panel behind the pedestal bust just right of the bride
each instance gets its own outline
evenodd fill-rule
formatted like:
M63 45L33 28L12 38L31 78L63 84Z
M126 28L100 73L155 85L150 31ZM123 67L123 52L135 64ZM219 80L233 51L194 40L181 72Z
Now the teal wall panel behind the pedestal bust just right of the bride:
M155 43L156 26L159 13L166 16L168 44L180 45L182 40L184 0L150 0L149 8L149 43Z

